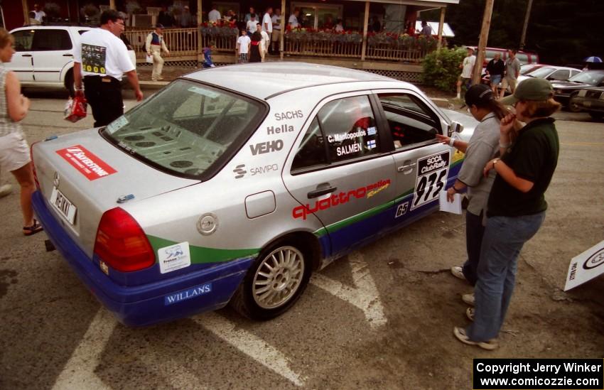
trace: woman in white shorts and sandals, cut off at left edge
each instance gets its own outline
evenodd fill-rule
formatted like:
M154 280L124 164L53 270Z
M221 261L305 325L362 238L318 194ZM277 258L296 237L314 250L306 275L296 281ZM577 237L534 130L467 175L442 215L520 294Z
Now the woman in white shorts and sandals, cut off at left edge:
M9 63L15 53L13 43L13 36L0 28L0 170L11 172L19 183L23 234L31 236L43 229L33 218L31 195L36 185L29 146L19 123L26 117L30 101L21 94L21 85L15 73L4 67L4 63Z

